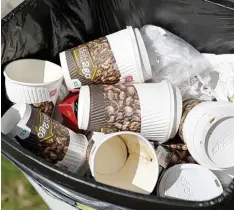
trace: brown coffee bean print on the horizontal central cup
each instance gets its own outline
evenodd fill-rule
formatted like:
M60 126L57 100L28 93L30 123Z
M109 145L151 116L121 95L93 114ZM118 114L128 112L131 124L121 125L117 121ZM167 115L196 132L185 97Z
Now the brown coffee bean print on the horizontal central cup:
M137 91L133 85L104 85L106 128L140 132L141 111Z

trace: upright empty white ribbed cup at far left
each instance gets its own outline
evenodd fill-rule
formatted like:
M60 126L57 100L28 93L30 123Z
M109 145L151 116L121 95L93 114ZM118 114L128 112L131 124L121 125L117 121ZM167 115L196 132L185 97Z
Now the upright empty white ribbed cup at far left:
M4 76L10 101L32 104L48 116L53 115L63 80L60 66L49 61L22 59L8 64Z

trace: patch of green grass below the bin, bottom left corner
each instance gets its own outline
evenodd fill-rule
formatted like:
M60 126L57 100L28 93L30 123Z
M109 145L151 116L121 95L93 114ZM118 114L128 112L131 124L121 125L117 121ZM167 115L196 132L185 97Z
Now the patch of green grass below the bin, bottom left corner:
M5 157L1 161L2 210L48 210L23 173Z

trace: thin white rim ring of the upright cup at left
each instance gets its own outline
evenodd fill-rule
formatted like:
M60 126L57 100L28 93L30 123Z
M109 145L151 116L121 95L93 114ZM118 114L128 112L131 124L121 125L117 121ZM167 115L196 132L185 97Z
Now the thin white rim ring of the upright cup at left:
M7 75L7 68L8 68L10 65L15 64L15 63L19 63L19 62L45 62L45 63L48 62L48 63L52 64L53 66L55 66L56 69L60 69L61 75L60 75L60 77L59 77L58 79L53 80L53 81L50 81L50 82L28 83L28 82L16 81L16 80L14 80L14 79L11 79L11 78ZM19 68L20 68L20 67L19 67ZM59 71L58 71L58 73L59 73ZM8 80L8 81L10 81L11 83L14 83L14 84L20 85L20 86L31 86L31 87L38 87L38 86L40 86L40 87L45 87L45 86L48 86L48 85L50 85L50 84L57 83L57 82L59 82L60 80L62 81L62 79L63 79L63 73L62 73L62 68L61 68L61 66L59 66L59 65L57 65L57 64L55 64L55 63L52 63L52 62L50 62L50 61L39 60L39 59L19 59L19 60L13 61L13 62L11 62L11 63L9 63L9 64L6 65L3 74L4 74L5 79Z

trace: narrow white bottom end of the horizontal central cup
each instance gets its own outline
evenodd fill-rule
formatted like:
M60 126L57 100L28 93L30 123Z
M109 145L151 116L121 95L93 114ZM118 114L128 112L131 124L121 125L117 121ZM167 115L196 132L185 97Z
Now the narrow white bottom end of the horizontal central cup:
M78 127L87 130L90 115L90 90L89 86L82 86L79 94L79 109L77 112Z

